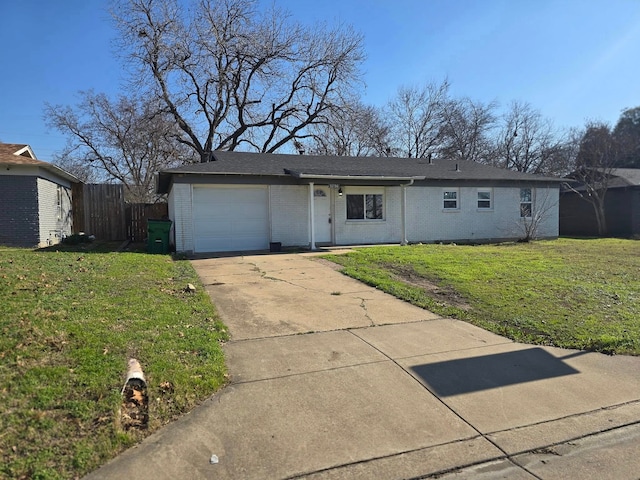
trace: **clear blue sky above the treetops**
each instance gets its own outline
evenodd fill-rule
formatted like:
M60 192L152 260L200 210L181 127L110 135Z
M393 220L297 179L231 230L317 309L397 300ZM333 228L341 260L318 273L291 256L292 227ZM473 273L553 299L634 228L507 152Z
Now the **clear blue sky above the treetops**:
M342 22L364 35L369 104L448 78L455 96L526 101L558 127L615 124L623 108L640 106L639 0L274 2L302 22ZM65 138L47 129L44 103L118 92L106 4L0 0L0 141L28 143L51 161Z

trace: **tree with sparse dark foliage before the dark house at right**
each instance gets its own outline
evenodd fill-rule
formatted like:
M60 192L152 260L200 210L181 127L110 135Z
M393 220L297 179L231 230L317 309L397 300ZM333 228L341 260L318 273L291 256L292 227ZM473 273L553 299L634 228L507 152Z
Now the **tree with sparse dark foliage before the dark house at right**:
M579 182L572 187L573 191L593 206L599 235L607 232L605 198L621 151L609 125L599 121L587 122L580 141L576 170L569 178Z

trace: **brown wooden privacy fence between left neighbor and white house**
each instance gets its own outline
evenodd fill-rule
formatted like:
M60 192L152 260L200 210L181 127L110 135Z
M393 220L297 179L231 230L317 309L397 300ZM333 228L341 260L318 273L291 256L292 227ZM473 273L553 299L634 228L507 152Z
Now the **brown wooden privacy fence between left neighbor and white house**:
M74 184L73 232L95 235L108 241L142 242L147 237L147 219L166 218L166 203L127 204L119 184Z

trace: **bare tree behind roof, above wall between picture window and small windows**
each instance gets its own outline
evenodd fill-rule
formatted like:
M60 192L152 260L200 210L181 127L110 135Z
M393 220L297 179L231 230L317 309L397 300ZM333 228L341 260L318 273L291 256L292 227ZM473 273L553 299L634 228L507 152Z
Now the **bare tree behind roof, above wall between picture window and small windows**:
M398 155L422 158L435 153L442 140L449 82L401 87L387 105Z

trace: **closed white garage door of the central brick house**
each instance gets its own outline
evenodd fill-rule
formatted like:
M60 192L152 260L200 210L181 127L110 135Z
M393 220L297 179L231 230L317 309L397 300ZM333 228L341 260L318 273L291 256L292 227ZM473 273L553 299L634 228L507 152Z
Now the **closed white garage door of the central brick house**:
M196 252L268 248L267 187L193 187L193 225Z

